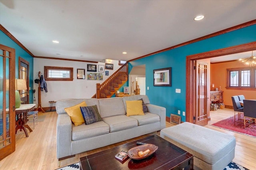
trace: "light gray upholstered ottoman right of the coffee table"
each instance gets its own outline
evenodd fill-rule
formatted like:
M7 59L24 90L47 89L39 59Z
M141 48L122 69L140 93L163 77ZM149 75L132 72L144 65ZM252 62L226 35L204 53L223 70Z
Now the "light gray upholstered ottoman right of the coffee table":
M193 154L195 170L223 170L235 157L232 135L192 123L162 129L160 137Z

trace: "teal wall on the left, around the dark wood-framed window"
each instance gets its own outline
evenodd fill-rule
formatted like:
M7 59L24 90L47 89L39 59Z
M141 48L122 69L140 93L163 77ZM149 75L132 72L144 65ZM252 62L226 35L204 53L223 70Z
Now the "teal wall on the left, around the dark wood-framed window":
M15 49L15 78L19 78L19 57L29 62L29 86L31 87L29 91L29 103L33 103L33 57L10 39L10 37L8 37L3 31L0 31L0 44Z

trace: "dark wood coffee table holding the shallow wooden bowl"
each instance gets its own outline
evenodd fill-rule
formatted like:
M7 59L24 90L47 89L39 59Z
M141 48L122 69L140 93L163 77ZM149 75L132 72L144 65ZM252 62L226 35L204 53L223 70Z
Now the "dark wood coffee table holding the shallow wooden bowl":
M147 158L133 160L126 158L123 162L117 160L115 155L121 150L129 150L136 147L136 142L126 143L112 149L107 149L95 154L90 154L80 158L81 170L192 170L193 155L180 149L176 145L162 139L157 135L152 135L138 140L143 143L154 144L158 150Z

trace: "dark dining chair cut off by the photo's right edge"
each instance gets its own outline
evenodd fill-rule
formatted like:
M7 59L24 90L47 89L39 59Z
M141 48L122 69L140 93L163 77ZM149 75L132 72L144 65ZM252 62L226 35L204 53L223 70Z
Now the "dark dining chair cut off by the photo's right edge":
M256 119L256 100L244 100L244 129L247 122L252 125L252 119Z

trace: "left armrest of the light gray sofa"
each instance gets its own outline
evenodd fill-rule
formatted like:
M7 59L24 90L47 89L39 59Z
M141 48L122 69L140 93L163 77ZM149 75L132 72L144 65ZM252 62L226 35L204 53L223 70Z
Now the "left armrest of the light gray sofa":
M71 155L72 122L67 113L58 114L57 119L57 158Z

